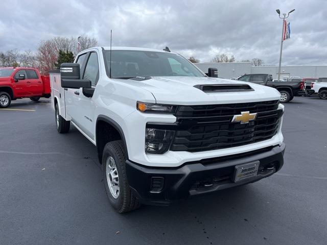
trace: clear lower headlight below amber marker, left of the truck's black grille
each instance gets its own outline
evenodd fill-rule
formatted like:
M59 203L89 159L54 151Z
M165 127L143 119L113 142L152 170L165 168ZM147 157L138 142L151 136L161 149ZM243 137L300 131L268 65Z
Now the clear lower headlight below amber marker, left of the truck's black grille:
M172 142L174 131L146 128L145 151L152 154L164 154Z

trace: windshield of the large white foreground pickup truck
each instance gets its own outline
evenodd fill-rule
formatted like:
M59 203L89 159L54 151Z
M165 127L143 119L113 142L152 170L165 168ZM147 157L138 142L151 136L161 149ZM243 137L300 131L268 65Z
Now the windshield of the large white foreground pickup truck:
M110 51L105 51L107 75L110 69ZM111 77L204 77L202 72L188 60L177 54L113 50L111 53Z

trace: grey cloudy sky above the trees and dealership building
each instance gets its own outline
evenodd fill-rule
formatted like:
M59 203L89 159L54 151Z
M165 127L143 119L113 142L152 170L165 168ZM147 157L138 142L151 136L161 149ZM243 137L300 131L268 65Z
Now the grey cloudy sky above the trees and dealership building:
M327 65L326 0L2 0L0 51L36 51L40 40L85 33L109 46L164 48L201 62L218 53L277 65L282 20L291 13L284 65Z

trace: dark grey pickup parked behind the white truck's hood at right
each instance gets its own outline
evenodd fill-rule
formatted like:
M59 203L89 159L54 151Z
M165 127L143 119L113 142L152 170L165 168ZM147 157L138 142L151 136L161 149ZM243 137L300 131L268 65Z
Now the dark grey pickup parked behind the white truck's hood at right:
M297 78L291 81L274 82L270 74L245 74L238 78L239 81L257 83L266 85L277 89L281 93L281 102L287 103L293 100L294 96L302 96L305 94L303 91L304 83Z

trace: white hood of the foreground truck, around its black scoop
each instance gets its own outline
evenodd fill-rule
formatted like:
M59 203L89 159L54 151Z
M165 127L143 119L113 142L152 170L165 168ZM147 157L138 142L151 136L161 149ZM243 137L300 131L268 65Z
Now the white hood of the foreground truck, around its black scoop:
M148 80L124 80L153 94L158 104L203 105L279 100L280 93L271 87L208 77L152 77ZM248 84L252 91L203 92L195 85ZM142 98L139 99L142 101Z

